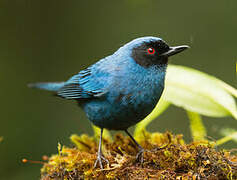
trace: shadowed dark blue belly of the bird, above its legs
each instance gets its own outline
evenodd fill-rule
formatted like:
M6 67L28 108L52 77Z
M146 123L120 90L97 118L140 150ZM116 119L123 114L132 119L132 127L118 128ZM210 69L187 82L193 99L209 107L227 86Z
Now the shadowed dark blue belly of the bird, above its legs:
M83 105L89 120L100 128L124 130L143 120L156 106L162 90L144 94L118 95L114 99L94 100Z

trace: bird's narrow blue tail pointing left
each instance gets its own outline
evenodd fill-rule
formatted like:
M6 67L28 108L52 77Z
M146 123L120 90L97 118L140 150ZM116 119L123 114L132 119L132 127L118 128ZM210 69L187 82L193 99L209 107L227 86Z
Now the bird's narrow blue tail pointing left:
M58 91L64 86L65 82L40 82L28 84L30 88L43 89L47 91Z

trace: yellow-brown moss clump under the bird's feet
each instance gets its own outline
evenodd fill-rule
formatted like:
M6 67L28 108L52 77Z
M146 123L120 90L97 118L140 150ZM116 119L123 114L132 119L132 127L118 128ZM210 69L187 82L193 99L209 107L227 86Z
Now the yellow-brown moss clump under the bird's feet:
M72 136L76 147L59 146L41 169L41 179L237 179L237 155L217 151L207 141L185 144L182 135L144 132L140 144L147 149L144 163L136 161L137 147L122 134L104 140L103 153L110 164L93 168L97 141Z

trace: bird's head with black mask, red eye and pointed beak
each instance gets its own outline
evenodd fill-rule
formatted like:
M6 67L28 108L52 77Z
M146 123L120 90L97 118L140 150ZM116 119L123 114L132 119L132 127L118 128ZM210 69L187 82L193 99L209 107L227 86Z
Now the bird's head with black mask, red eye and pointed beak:
M166 65L168 57L189 48L187 45L170 47L161 38L142 37L125 44L121 50L129 52L134 61L143 66Z

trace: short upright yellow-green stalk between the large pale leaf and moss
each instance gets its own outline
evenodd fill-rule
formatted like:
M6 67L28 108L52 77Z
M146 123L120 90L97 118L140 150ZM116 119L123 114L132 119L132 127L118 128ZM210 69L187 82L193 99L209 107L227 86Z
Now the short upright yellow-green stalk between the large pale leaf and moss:
M190 130L194 141L205 140L207 135L206 128L203 125L202 118L198 113L187 111L190 119Z

